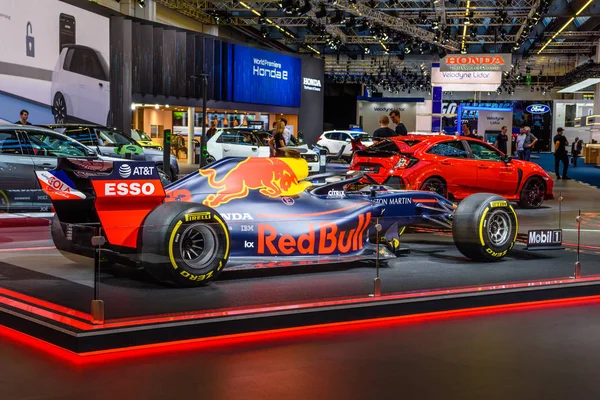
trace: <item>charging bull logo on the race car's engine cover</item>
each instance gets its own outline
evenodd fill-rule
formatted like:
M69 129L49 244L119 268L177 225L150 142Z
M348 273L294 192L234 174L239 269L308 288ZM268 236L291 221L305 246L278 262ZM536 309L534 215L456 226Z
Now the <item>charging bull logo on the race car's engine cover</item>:
M263 196L271 198L297 194L304 190L304 186L299 184L293 168L296 161L249 157L221 179L217 179L215 169L200 170L200 175L208 179L208 184L217 189L216 193L208 195L202 203L209 207L218 207L231 200L248 196L251 190L258 190Z

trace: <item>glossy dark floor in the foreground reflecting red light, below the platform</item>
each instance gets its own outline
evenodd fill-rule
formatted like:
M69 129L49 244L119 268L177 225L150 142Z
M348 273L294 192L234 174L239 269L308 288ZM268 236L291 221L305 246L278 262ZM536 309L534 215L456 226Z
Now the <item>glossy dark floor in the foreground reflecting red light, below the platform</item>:
M0 394L93 399L597 399L600 303L206 343L74 365L1 336Z

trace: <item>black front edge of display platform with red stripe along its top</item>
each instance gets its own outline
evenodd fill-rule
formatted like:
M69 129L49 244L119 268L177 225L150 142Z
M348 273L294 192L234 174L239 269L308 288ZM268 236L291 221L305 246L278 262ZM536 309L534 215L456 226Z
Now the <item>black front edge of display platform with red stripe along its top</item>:
M147 345L224 338L381 318L422 315L490 306L539 304L545 301L600 295L600 277L529 282L512 288L406 295L365 296L321 301L318 305L265 307L262 310L153 316L94 325L89 317L47 307L37 299L2 291L0 325L51 343L78 355L135 349ZM443 292L443 291L442 291ZM305 306L305 308L302 308ZM230 315L231 313L231 315Z

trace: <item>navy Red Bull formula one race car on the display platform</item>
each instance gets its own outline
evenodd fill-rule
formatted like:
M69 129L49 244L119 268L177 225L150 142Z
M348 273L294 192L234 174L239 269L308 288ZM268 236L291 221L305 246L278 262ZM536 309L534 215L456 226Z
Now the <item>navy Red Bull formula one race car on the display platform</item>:
M224 158L163 188L152 163L65 158L38 179L63 254L93 256L100 232L103 258L178 286L213 280L226 266L392 258L406 226L452 227L460 252L478 261L502 259L516 241L517 215L500 196L456 207L433 192L347 190L361 172L312 183L331 180L324 175L308 178L303 159Z

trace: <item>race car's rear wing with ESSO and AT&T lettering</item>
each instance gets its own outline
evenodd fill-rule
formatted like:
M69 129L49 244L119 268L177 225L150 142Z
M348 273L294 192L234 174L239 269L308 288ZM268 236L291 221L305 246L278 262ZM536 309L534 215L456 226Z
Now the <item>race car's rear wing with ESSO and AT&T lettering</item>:
M136 247L144 219L165 199L153 162L59 158L36 175L61 222L100 223L116 246Z

